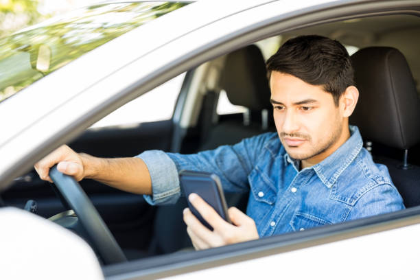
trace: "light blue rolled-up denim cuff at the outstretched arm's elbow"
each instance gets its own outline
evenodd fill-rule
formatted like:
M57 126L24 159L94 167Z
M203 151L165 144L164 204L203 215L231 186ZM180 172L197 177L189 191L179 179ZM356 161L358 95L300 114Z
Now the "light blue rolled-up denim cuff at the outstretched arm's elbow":
M144 198L151 205L173 204L180 197L178 170L165 152L150 150L139 154L148 167L152 179L152 196Z

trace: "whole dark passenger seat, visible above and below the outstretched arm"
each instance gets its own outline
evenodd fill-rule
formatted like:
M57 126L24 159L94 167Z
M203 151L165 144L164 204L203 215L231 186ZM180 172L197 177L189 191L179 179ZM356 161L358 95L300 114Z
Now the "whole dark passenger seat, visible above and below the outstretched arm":
M232 104L249 109L249 121L244 124L242 117L239 119L220 117L216 124L211 123L218 93L207 93L199 121L202 130L205 131L202 132L204 135L201 137L202 143L198 145L196 152L234 144L272 128L271 110L266 110L266 115L262 114L261 117L261 111L269 109L271 104L266 65L258 47L250 45L228 54L218 87L226 91ZM226 194L227 204L235 205L243 211L246 209L247 201L248 194ZM172 253L192 246L183 222L182 211L185 207L187 201L181 197L175 205L161 206L157 209L152 244L155 253Z

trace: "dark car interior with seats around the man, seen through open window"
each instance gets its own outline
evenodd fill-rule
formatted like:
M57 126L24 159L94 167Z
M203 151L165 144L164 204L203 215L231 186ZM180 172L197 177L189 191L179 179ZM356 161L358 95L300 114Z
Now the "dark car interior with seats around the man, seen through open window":
M88 129L69 145L102 157L145 150L189 154L275 132L265 61L301 34L327 36L347 47L360 91L350 124L360 128L374 161L388 167L406 207L420 205L420 19L410 14L323 23L244 46L187 71L171 119ZM218 113L224 94L240 106L237 113ZM80 184L128 259L193 250L183 222L184 197L175 205L152 207L142 196L93 180ZM229 207L246 211L250 194L225 195ZM67 210L54 187L34 171L16 179L1 198L19 208L34 200L44 218Z

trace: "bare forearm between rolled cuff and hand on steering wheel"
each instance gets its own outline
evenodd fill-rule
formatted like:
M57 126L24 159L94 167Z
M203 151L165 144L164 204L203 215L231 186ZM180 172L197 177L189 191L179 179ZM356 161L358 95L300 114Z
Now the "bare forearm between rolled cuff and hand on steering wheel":
M135 194L152 194L149 170L141 159L102 159L89 154L80 156L84 165L84 178Z

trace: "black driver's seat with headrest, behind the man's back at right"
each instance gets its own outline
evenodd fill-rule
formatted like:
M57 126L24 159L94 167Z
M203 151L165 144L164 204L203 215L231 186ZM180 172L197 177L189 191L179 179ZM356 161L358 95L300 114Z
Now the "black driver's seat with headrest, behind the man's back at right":
M406 59L391 47L368 47L351 60L360 96L350 123L373 143L374 161L388 167L406 207L420 205L420 167L404 165L404 152L420 141L420 102ZM384 152L390 149L401 160Z

